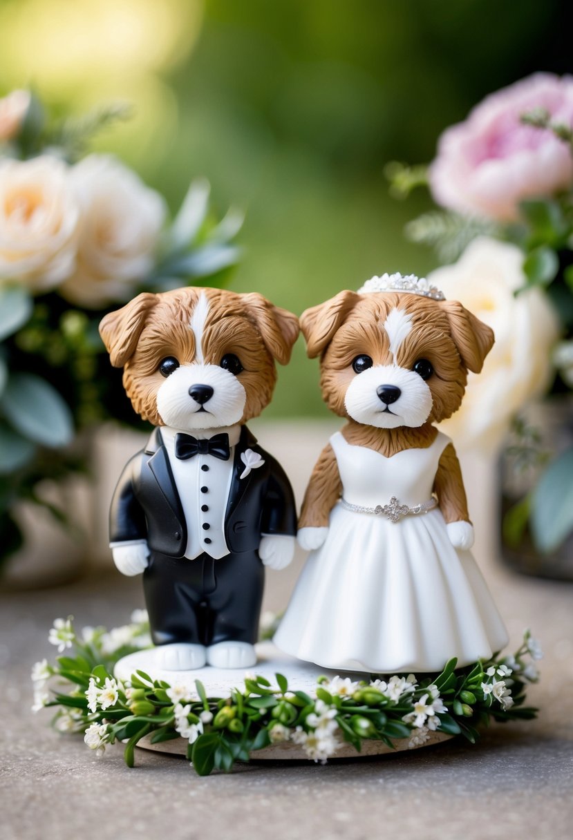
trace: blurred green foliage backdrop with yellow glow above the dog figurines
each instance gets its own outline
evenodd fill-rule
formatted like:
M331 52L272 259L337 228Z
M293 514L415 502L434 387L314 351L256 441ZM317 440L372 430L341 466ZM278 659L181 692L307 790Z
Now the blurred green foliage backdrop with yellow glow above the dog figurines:
M103 147L176 207L206 176L246 212L236 291L301 312L432 257L402 229L430 201L388 196L389 160L425 162L449 124L535 70L565 72L559 0L0 0L0 88L62 109L108 97L136 118ZM302 339L265 415L322 413Z

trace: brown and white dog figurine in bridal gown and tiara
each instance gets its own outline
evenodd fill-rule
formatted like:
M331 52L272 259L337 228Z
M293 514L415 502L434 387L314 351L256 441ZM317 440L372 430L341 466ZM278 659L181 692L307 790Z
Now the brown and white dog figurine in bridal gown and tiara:
M275 641L323 667L469 664L507 633L468 549L460 465L434 427L460 407L493 333L417 277L372 278L303 312L323 399L348 423L323 449L298 538L310 549Z

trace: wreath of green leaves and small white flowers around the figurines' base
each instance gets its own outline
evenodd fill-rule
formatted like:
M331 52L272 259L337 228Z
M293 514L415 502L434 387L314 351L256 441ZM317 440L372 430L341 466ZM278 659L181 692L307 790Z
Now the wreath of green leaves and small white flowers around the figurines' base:
M149 675L140 667L152 662L143 610L109 632L84 627L78 634L71 618L59 618L49 639L59 654L71 648L71 655L58 656L54 665L46 659L34 665L33 711L55 707L55 729L82 732L97 755L109 744L124 743L129 767L138 745L185 753L199 775L229 772L236 761L259 757L324 763L429 746L455 735L476 743L490 720L537 714L524 705L527 684L539 679L532 660L541 657L528 631L513 656L498 654L460 669L450 659L441 673L419 680L412 674L317 678L313 665L277 660L280 654L269 645L260 646L256 675L223 675L213 668L153 669ZM199 676L209 681L209 692Z

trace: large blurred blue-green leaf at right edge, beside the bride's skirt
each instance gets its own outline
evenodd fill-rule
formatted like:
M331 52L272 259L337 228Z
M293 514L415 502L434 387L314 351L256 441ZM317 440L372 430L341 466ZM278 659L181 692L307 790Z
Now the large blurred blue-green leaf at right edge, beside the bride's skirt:
M539 478L531 499L537 548L554 551L573 530L573 448L560 454Z

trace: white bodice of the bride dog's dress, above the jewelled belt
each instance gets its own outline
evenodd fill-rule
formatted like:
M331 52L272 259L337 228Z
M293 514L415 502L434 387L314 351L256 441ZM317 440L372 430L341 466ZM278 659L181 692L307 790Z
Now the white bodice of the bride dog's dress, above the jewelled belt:
M386 458L374 449L349 444L342 433L335 433L330 444L344 500L361 507L385 505L392 496L410 507L428 501L440 456L449 443L449 438L439 432L426 449L402 449Z

